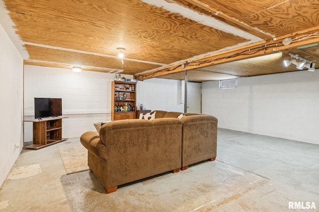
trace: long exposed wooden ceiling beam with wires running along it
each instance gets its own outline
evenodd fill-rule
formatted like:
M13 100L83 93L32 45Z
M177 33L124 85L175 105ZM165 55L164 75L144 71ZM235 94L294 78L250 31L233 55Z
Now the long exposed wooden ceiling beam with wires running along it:
M167 74L183 72L186 70L203 68L203 67L226 63L226 62L232 62L237 60L249 59L252 57L263 56L263 55L271 54L273 52L289 50L299 46L304 46L304 45L319 42L318 35L317 36L315 35L313 37L310 36L304 40L301 39L301 38L305 38L306 36L313 35L316 32L319 33L318 30L319 30L319 26L311 28L310 31L303 30L300 32L289 34L287 36L281 36L280 38L274 38L273 40L260 41L250 45L246 45L244 47L238 47L231 50L192 59L190 61L185 61L178 64L161 67L150 72L137 74L135 75L135 77L138 80L146 80L146 79L150 79L154 77L164 76ZM294 37L292 35L294 36L298 35L298 36ZM292 37L294 43L291 43L289 45L283 45L282 42L287 37Z

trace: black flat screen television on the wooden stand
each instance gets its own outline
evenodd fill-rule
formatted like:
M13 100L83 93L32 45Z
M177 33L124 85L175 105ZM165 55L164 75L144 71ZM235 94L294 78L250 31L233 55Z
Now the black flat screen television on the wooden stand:
M34 98L34 118L62 115L61 98Z

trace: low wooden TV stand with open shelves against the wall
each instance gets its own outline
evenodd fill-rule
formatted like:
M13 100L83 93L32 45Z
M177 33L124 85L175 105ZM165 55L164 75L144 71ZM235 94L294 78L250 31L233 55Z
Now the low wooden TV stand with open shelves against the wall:
M41 119L24 120L33 122L33 141L32 144L24 146L24 149L39 149L51 144L66 140L62 138L62 118L46 117Z

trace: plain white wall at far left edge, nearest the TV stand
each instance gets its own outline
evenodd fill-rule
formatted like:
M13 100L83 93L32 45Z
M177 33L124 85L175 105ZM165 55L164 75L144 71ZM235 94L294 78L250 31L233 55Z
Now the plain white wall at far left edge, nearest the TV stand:
M22 79L23 60L0 24L0 185L23 147Z

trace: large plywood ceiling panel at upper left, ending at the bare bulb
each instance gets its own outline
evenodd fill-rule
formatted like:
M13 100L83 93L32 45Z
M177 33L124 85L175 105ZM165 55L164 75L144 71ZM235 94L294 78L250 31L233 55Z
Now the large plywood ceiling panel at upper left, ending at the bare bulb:
M16 1L20 2L10 0L7 4L14 10L10 15L24 42L113 56L118 54L117 47L126 48L128 55L140 55L136 47L158 43L195 24L193 20L139 0L95 0L83 4L64 0L49 4L40 0L32 8L28 8L32 0L15 4Z

